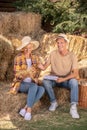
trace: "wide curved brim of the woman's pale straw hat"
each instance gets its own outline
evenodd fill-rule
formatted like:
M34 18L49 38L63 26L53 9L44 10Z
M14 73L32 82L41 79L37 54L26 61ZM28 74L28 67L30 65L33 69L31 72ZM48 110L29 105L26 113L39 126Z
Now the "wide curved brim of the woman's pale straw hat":
M28 44L33 44L33 49L32 50L36 50L39 47L39 42L38 41L33 41L31 40L29 43L26 44L22 44L21 46L19 46L16 50L22 50L24 47L26 47Z

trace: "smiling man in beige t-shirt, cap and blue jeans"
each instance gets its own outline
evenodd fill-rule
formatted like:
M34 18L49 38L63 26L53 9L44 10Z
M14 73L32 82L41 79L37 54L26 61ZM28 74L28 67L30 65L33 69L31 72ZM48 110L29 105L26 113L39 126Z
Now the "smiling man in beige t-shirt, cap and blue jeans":
M78 63L76 55L67 49L69 40L65 34L60 34L56 39L57 50L51 52L48 60L44 65L39 64L39 68L45 70L51 65L51 75L57 76L55 80L44 79L43 85L49 96L51 106L50 111L55 111L58 107L53 87L61 86L71 90L71 107L70 114L72 118L79 118L77 112L78 104Z

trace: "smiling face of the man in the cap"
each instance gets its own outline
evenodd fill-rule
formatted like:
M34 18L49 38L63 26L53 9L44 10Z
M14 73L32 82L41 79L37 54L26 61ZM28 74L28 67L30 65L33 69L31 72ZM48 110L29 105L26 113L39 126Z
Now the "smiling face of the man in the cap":
M57 46L59 51L64 51L67 49L67 42L63 38L57 39Z

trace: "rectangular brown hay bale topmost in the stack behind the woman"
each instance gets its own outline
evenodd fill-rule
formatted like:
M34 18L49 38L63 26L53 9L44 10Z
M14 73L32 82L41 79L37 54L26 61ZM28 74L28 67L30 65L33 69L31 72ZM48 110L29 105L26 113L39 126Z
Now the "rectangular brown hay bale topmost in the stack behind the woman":
M0 12L0 31L3 34L34 35L41 28L41 15L25 12Z

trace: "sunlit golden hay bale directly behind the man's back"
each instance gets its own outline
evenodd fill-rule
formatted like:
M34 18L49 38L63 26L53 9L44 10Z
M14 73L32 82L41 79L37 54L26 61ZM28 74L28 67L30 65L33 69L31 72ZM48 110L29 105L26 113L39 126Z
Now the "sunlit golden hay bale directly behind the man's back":
M58 34L56 33L46 33L41 37L40 39L41 49L39 50L41 62L44 63L44 59L47 59L50 52L57 48L55 44L55 39L57 38L57 36ZM87 59L87 39L81 36L76 36L76 35L67 34L67 36L70 40L68 49L70 51L73 51L77 55L78 62L79 62L79 69L81 68L83 69L85 67L87 68L87 62L86 62L87 61L86 60ZM49 73L50 73L50 67L48 67L43 72L41 71L39 79L42 80L43 76ZM80 78L86 78L85 75L83 75L82 71L80 71Z

